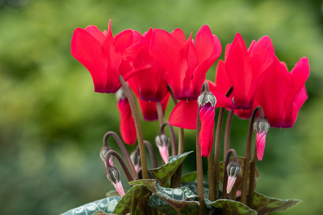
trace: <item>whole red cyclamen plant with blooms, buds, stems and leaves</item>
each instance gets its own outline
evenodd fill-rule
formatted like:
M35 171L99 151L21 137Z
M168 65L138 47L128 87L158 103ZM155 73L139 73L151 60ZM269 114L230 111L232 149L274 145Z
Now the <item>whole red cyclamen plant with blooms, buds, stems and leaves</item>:
M224 61L218 61L215 83L205 80L207 70L221 51L220 41L207 25L201 27L195 40L192 33L186 39L179 28L171 33L150 28L143 35L127 29L113 36L111 20L107 31L101 32L96 26L75 29L71 54L89 70L95 92L116 94L123 141L117 133L108 131L100 151L106 178L117 192L110 191L107 198L64 214L261 215L284 211L301 202L257 193L256 161L264 157L269 128L293 127L297 113L308 97L305 89L309 76L307 58L302 57L288 72L286 64L275 56L268 36L257 42L253 40L247 49L237 33L232 44L225 48ZM162 158L160 167L151 143L144 140L131 90L138 99L143 118L159 121L155 144ZM175 107L169 120L164 121L169 97ZM215 108L220 111L213 156ZM225 160L220 162L225 109L228 110L224 131ZM230 149L233 114L250 118L244 157ZM166 126L170 138L165 134ZM174 127L178 127L178 140ZM197 171L187 174L182 174L182 162L192 151L184 152L183 128L196 129ZM255 144L251 150L253 130ZM110 136L118 143L128 167L108 146ZM124 143L133 145L136 139L137 148L129 155ZM145 146L152 169L147 167ZM172 156L169 156L170 146ZM125 183L125 179L113 166L113 157L131 185L128 191L122 187L121 181ZM208 160L208 182L203 182L202 157Z

